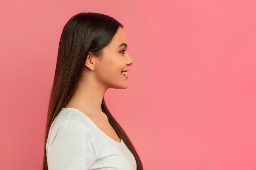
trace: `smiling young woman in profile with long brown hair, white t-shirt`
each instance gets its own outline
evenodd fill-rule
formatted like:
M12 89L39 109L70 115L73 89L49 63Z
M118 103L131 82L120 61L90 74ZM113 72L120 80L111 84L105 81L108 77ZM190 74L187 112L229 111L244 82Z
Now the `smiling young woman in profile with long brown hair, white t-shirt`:
M108 88L127 88L123 26L79 13L64 26L49 101L43 170L143 170L130 139L104 102Z

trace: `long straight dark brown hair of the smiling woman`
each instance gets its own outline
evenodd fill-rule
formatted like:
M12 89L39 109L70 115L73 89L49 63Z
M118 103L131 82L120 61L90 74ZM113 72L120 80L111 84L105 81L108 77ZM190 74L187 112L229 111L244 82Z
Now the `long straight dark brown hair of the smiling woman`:
M74 92L89 52L100 56L121 27L114 18L99 13L79 13L74 15L64 26L58 48L58 58L49 101L47 125L45 134L45 148L43 170L48 170L46 157L46 142L52 122L67 104ZM137 170L143 170L141 160L132 142L108 110L104 98L102 111L108 116L111 126L121 137L132 152L137 162Z

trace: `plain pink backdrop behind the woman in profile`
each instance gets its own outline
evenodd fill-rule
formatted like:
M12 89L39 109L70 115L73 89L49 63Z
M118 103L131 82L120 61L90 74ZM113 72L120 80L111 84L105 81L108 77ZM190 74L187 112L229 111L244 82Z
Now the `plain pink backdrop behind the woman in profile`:
M134 65L106 102L145 170L256 169L256 1L0 2L0 169L40 170L58 41L76 13L124 24Z

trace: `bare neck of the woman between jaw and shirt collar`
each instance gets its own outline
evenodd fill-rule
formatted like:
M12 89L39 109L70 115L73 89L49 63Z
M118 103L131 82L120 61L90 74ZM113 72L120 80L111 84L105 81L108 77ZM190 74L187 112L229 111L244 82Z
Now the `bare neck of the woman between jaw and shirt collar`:
M102 113L101 103L106 90L93 82L81 80L65 108L76 108L85 115L99 115Z

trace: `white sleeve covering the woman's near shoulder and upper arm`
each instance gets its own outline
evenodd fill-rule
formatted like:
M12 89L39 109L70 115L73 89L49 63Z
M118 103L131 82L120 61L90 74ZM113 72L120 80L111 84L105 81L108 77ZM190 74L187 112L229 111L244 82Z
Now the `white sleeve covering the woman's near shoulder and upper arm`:
M90 129L80 121L63 121L52 128L47 141L49 170L89 170L97 158Z

